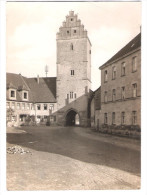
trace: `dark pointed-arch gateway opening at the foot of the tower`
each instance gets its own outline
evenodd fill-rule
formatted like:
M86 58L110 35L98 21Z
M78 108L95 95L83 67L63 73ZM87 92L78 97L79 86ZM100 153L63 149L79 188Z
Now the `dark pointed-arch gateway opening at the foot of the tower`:
M66 114L66 126L77 126L77 125L80 125L79 114L74 110L70 110Z

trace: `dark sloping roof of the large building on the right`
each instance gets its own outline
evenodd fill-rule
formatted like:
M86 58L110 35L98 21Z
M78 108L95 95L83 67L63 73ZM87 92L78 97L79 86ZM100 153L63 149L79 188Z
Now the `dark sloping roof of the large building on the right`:
M118 51L112 58L110 58L106 63L100 66L99 69L102 69L105 65L110 64L111 62L121 58L125 54L141 47L141 33L139 33L134 39L132 39L126 46L124 46L120 51Z

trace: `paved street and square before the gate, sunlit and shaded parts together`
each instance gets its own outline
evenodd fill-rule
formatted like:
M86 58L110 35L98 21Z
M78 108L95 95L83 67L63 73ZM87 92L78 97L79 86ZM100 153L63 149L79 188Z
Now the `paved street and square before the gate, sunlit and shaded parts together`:
M30 154L8 154L9 190L138 189L140 141L80 127L11 129L8 146Z

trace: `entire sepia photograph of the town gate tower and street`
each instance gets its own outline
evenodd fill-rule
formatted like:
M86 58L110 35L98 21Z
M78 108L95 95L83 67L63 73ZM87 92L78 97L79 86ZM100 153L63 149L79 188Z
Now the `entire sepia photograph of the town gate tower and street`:
M5 18L6 190L140 191L142 2L6 1Z

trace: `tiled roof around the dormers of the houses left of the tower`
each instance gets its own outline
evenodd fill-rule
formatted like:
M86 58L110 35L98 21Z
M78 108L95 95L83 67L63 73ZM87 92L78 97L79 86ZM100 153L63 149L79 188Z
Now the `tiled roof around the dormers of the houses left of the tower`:
M7 87L15 86L16 100L22 101L21 91L27 90L29 102L56 102L56 77L26 78L20 74L7 73ZM9 87L10 88L10 87ZM7 99L8 93L7 93Z

